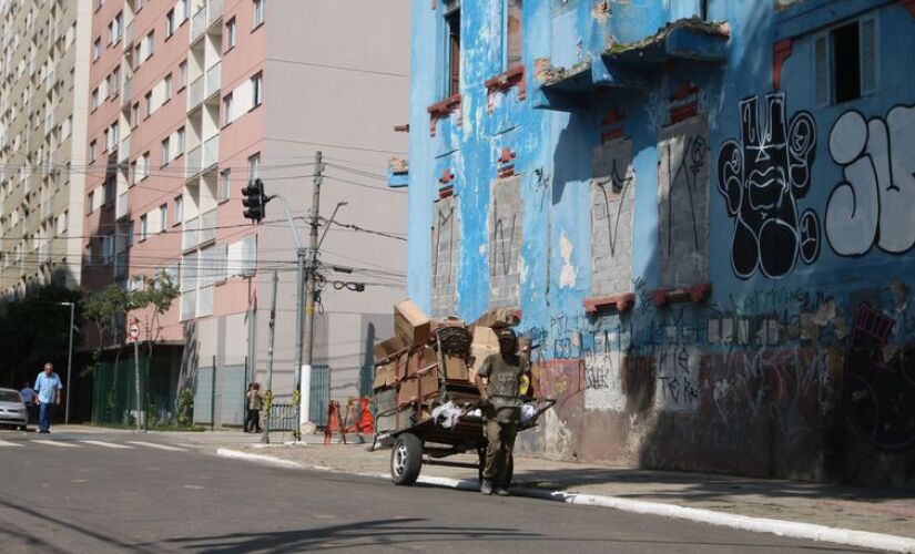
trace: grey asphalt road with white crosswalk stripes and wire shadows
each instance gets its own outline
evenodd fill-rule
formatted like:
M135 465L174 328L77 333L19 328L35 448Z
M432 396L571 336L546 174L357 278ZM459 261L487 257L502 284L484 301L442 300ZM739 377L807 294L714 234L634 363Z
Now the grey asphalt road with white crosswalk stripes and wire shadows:
M50 442L35 442L43 440ZM271 468L166 441L0 432L0 552L863 552L604 509Z

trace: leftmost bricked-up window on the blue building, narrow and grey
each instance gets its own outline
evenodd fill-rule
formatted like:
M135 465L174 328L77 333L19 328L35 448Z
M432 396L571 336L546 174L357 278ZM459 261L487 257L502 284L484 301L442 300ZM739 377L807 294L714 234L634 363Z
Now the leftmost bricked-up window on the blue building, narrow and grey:
M433 314L456 310L457 268L460 253L460 215L457 196L435 203L433 227Z

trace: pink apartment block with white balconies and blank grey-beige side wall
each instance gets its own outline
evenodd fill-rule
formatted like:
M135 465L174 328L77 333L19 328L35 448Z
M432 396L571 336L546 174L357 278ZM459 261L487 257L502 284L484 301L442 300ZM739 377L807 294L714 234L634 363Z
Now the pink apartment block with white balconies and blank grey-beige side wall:
M406 195L384 174L407 148L394 127L408 117L408 29L406 0L358 13L332 0L94 1L83 279L180 284L153 332L175 360L160 411L191 389L197 421L241 423L245 382L267 378L273 271L272 384L291 398L295 242L278 201L246 220L241 189L261 178L283 195L306 240L316 151L323 215L345 205L322 225L313 419L365 386L403 297Z

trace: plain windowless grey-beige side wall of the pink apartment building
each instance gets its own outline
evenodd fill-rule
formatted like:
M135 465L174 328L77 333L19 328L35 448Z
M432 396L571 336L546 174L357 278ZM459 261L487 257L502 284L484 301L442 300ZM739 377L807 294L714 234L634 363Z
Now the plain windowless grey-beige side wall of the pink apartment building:
M401 237L392 238L333 226L321 246L323 312L316 317L314 363L331 367L332 398L356 396L362 367L373 363L375 341L393 332L394 304L405 296L406 194L387 188L388 160L405 157L407 137L394 132L407 122L409 90L409 3L352 6L322 0L268 4L264 65L265 132L262 174L268 193L286 196L297 216L312 203L314 155L325 156L321 215ZM294 167L282 168L284 164ZM282 218L268 206L268 219ZM297 220L307 246L307 227ZM323 230L323 229L322 229ZM428 238L427 238L428 240ZM276 325L275 390L286 398L295 367L295 245L285 225L265 226L258 263L283 265ZM291 261L293 264L291 264ZM340 273L333 266L353 268ZM270 278L258 280L255 367L266 366ZM334 281L366 283L364 293Z

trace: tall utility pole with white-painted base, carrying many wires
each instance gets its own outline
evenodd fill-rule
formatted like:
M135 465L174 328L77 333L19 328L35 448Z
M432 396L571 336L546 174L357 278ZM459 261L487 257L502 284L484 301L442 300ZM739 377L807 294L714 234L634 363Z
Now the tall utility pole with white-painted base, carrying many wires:
M315 153L315 181L314 193L312 196L312 213L308 225L311 233L308 236L308 267L305 271L305 329L304 329L304 345L303 332L299 327L296 332L296 342L298 343L298 368L301 370L298 379L298 423L299 430L312 431L312 422L309 417L311 410L311 389L312 389L312 353L314 351L314 336L315 336L315 276L317 273L317 232L321 226L321 184L324 181L324 163L322 162L322 153ZM298 258L299 274L302 273L302 264L304 259ZM301 289L299 289L301 290ZM301 297L299 297L301 298ZM302 320L302 306L298 307L298 320Z

